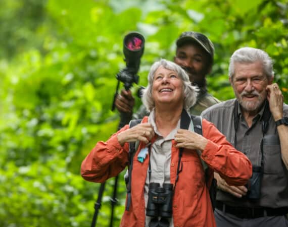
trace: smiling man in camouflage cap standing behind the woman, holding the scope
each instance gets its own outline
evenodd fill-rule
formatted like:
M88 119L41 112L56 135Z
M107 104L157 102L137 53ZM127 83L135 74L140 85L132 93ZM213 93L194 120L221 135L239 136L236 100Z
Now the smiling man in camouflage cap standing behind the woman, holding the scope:
M220 102L207 92L206 75L211 72L213 56L214 45L202 33L183 32L176 40L174 62L186 71L191 83L199 87L197 102L190 108L193 115L200 115L204 109ZM143 105L132 115L134 98L130 91L122 90L116 97L115 106L121 113L120 128L128 124L131 118L141 119L149 115Z

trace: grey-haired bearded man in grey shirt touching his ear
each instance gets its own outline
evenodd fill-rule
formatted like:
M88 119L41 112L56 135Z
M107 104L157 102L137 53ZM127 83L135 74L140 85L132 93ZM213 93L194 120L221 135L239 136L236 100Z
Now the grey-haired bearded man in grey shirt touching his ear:
M288 105L273 78L265 51L240 48L229 65L236 98L202 112L253 164L247 185L230 186L214 175L218 227L288 226Z

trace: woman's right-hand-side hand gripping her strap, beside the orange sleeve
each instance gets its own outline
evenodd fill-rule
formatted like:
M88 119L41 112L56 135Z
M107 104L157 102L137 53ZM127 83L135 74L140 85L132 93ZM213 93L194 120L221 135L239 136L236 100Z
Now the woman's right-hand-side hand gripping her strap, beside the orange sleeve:
M204 150L208 140L198 133L190 130L178 129L175 134L176 147L183 147L190 150Z

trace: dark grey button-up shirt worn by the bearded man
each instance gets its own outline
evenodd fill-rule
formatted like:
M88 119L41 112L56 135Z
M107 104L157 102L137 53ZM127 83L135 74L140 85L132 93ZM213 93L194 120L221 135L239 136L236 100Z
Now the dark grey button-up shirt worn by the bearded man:
M234 146L234 110L235 99L216 104L203 111L202 116L212 122ZM264 106L253 119L249 128L240 108L238 108L239 123L236 135L236 149L242 151L253 165L260 165L260 144L263 137L262 115ZM288 117L288 105L283 105L283 116ZM287 138L288 139L288 138ZM243 207L284 207L288 206L288 171L281 158L281 147L275 122L271 116L267 133L263 138L264 173L261 186L261 198L250 201L247 197L237 198L230 193L218 190L217 200L232 206ZM241 166L239 166L241 168Z

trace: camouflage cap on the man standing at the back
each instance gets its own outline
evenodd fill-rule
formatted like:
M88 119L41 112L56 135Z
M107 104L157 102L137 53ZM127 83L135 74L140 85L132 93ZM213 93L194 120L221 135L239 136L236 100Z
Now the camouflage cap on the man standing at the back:
M176 41L176 46L180 46L182 43L186 41L195 41L199 43L212 57L214 56L214 45L210 41L209 38L207 38L205 35L199 32L182 32L179 38Z

